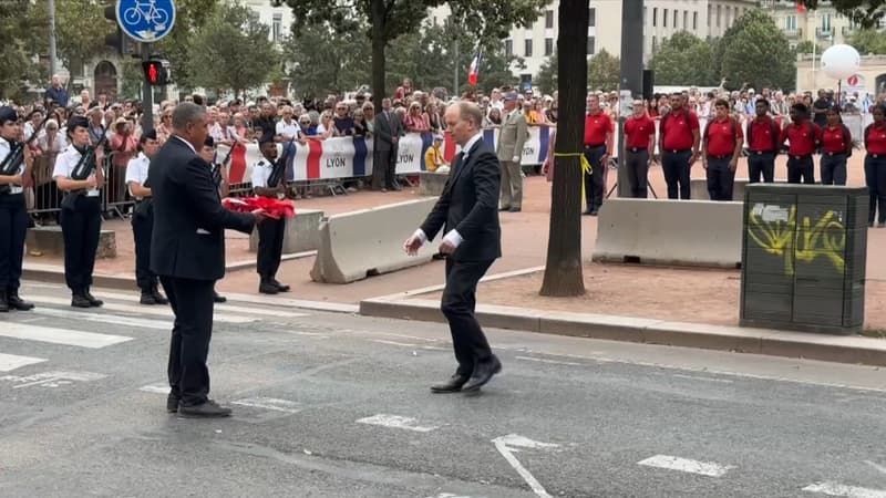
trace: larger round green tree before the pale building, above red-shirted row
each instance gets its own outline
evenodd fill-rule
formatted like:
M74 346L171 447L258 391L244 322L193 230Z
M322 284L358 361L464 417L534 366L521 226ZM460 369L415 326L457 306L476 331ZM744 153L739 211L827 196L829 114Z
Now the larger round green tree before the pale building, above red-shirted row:
M748 11L723 35L721 74L732 85L793 89L795 52L765 11Z

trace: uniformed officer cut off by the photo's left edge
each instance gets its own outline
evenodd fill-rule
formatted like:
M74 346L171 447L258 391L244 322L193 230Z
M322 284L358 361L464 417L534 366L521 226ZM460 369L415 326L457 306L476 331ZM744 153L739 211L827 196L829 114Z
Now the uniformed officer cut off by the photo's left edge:
M12 175L0 175L0 312L28 311L33 304L19 298L24 235L28 212L24 205L24 178L30 174L28 146L18 143L21 123L16 110L0 107L0 166L11 169L9 162L18 147L24 147L22 160Z

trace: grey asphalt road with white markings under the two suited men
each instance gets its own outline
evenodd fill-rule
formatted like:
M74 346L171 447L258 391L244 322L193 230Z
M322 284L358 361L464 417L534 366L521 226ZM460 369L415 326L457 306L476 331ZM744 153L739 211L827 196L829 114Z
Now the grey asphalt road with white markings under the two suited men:
M195 421L164 409L167 310L24 291L2 497L886 497L874 367L493 330L502 374L433 395L444 325L231 300L210 372L234 417Z

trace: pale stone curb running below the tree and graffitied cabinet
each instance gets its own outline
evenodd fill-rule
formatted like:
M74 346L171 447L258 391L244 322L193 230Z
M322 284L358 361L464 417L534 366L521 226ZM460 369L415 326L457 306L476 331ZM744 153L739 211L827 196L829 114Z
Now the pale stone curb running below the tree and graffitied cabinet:
M360 314L445 323L439 302L403 298L403 294L393 294L363 300L360 302ZM482 325L496 329L886 366L886 341L862 336L821 335L483 304L477 305L476 317Z

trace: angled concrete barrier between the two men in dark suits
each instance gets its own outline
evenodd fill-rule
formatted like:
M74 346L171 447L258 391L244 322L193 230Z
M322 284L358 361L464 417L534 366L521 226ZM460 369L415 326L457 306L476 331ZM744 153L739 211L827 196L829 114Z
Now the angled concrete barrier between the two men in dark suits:
M431 261L436 243L425 243L419 256L408 256L403 241L435 203L436 198L426 198L330 216L320 224L311 279L349 283Z

